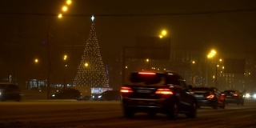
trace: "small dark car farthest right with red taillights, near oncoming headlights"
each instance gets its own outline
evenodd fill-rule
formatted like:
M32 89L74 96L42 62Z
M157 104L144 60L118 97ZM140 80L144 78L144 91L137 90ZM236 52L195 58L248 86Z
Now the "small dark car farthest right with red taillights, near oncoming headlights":
M224 94L226 96L226 104L237 104L243 105L244 98L243 95L238 90L224 90Z

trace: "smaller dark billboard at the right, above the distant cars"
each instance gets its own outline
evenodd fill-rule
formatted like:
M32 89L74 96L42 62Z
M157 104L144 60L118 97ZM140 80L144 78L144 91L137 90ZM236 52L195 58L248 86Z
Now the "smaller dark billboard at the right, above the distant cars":
M244 74L246 70L246 60L240 58L224 58L224 73Z

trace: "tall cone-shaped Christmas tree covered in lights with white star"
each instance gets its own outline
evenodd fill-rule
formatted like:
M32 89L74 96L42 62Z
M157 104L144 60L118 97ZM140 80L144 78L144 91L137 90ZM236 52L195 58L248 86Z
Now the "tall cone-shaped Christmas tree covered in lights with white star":
M105 66L102 62L98 39L92 16L90 35L86 41L86 48L78 66L78 73L74 78L74 86L109 87Z

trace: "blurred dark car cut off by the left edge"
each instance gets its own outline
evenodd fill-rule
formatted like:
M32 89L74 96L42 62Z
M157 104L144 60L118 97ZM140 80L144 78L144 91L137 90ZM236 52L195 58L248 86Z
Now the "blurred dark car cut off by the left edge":
M19 102L22 99L22 91L18 85L10 82L0 83L0 100L15 100Z

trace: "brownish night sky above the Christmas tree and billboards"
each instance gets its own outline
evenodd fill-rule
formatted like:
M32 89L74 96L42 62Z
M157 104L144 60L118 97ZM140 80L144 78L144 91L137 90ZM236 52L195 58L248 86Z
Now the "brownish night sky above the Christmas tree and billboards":
M68 12L58 19L54 15L61 12L64 2L1 2L1 78L14 70L22 82L34 75L46 78L44 44L48 42L50 31L53 82L62 82L60 65L64 54L69 56L67 81L72 82L81 61L82 46L89 36L92 14L105 64L111 65L120 59L122 46L134 46L136 37L158 36L162 29L168 31L172 50L209 51L215 48L219 54L255 54L254 0L73 0ZM42 58L42 62L34 66L34 58Z

